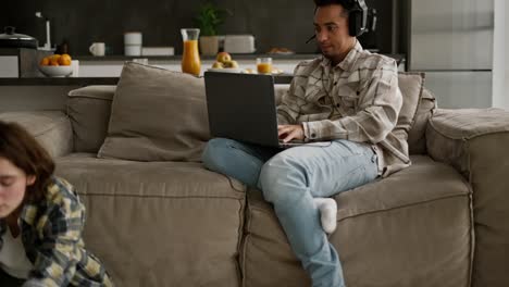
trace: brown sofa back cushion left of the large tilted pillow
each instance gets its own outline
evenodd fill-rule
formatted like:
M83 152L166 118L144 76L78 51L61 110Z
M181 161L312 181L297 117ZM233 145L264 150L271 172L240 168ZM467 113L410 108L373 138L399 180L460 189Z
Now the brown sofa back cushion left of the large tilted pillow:
M116 86L88 86L69 92L67 115L75 152L95 152L104 142Z

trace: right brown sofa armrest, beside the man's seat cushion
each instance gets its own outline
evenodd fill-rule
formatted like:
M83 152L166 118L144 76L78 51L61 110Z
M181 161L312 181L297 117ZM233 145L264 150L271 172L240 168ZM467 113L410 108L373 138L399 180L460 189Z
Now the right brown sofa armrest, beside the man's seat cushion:
M509 112L437 110L426 127L429 154L455 166L472 187L472 286L509 286Z

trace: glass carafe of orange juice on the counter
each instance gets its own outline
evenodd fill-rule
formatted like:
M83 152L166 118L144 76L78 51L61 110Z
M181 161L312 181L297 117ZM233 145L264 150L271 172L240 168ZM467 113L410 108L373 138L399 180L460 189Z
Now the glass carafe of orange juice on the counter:
M200 36L200 29L184 28L181 29L181 34L184 42L182 72L199 76L201 68L200 54L198 52L198 37Z

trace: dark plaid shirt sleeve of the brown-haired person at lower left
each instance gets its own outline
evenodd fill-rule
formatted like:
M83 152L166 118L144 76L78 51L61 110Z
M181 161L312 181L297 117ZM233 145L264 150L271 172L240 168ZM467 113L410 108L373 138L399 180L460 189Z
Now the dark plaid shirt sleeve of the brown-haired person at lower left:
M34 270L23 287L67 286L76 272L85 209L78 200L59 191L61 189L72 192L72 186L64 182L49 188L53 196L48 203L50 212L37 223L44 242L37 249Z

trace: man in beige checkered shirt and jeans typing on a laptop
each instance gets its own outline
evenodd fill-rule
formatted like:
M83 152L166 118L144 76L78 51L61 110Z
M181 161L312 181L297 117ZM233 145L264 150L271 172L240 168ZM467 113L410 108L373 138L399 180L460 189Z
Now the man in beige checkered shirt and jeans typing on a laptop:
M262 190L312 286L344 287L340 255L326 235L336 224L336 202L327 197L388 176L410 161L405 137L395 129L402 104L396 62L364 51L356 38L359 21L352 17L365 4L314 3L322 57L295 68L277 107L278 134L284 141L328 144L280 150L215 138L202 160L207 169Z

